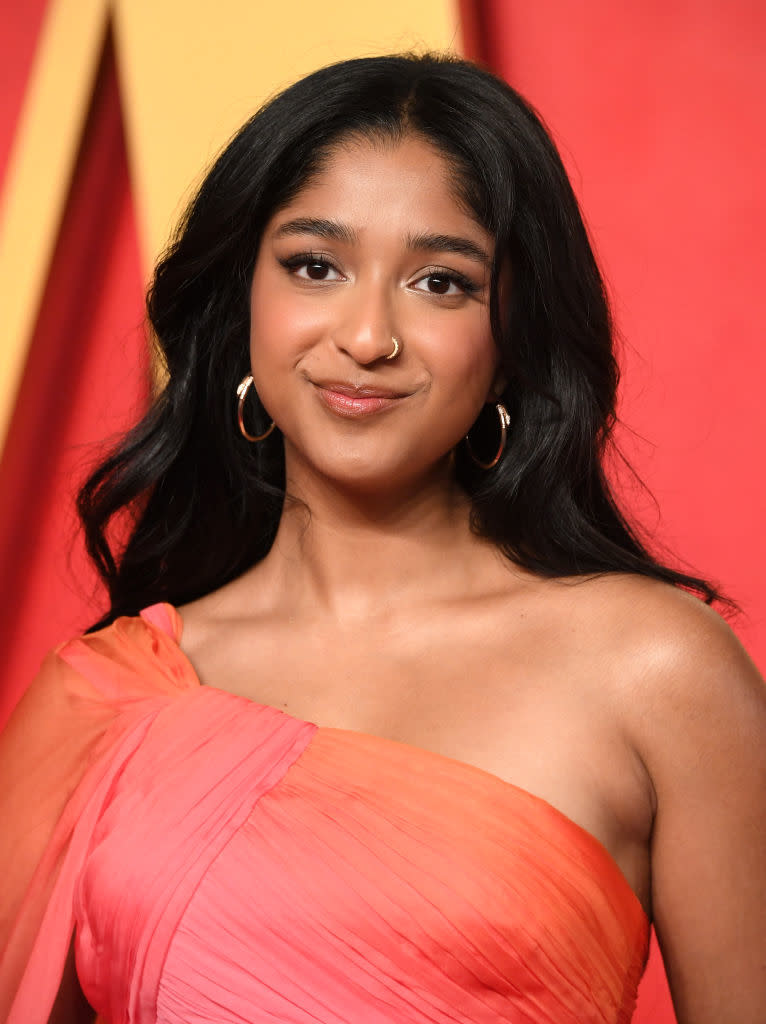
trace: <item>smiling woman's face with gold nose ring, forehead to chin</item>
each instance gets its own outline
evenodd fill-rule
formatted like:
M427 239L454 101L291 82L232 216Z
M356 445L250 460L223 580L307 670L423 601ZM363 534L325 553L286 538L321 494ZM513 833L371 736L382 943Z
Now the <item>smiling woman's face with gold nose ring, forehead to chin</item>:
M450 166L414 137L339 145L271 218L250 349L291 482L311 472L390 493L444 471L492 399L493 250Z

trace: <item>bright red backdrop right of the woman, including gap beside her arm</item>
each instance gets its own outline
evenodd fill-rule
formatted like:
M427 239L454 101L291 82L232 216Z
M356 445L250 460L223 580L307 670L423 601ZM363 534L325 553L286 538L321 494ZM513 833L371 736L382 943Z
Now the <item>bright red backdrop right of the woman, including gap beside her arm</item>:
M543 114L623 339L625 500L741 606L766 667L766 6L464 0L471 56ZM674 1020L654 950L636 1024Z

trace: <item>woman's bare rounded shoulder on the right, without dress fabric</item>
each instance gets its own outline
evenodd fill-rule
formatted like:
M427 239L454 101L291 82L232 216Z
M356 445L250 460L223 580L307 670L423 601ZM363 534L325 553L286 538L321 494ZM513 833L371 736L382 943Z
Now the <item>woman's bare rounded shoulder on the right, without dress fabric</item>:
M577 591L578 586L574 586ZM726 621L685 591L631 575L582 585L572 615L596 640L638 753L652 766L682 751L764 741L766 684ZM764 744L766 749L766 744Z

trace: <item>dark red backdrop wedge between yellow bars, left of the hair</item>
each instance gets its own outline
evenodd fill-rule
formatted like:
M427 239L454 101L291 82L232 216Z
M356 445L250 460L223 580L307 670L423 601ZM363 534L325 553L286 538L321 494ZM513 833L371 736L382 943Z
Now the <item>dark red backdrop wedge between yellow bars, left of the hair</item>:
M108 44L0 464L4 720L49 647L99 614L74 494L148 394L142 287Z

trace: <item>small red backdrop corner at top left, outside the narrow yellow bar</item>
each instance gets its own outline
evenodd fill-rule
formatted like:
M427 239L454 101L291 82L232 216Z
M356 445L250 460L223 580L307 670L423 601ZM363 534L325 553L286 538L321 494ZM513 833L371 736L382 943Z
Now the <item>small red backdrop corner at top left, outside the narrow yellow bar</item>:
M24 0L24 3L3 5L0 32L0 186L47 6L48 0Z

